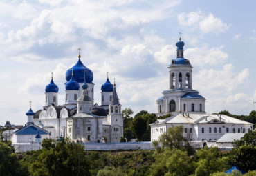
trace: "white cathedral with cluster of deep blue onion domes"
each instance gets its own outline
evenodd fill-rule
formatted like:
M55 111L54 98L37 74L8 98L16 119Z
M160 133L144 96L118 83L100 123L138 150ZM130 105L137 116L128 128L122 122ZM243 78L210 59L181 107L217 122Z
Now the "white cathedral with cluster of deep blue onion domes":
M59 104L59 88L52 74L44 92L44 107L35 113L30 107L24 128L37 128L31 133L38 131L51 139L69 137L81 143L119 142L123 135L123 121L116 83L111 84L107 75L107 81L101 86L101 105L94 103L93 72L84 66L81 49L78 50L77 63L66 71L64 104ZM16 139L19 139L18 135ZM30 137L30 141L33 140Z

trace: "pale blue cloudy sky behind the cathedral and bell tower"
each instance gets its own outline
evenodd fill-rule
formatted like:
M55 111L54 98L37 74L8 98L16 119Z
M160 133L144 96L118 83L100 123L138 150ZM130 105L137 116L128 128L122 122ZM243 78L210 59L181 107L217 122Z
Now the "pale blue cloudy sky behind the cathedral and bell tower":
M93 71L95 102L109 72L122 109L156 113L179 32L206 113L248 115L256 99L255 6L253 0L1 0L0 125L26 124L29 101L34 112L42 109L51 72L64 104L65 74L78 48Z

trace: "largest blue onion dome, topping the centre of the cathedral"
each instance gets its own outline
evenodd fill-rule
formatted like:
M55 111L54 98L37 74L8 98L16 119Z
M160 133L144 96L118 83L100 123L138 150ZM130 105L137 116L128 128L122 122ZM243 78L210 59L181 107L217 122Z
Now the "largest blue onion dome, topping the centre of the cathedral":
M84 69L85 69L85 75L86 75L86 82L91 83L93 81L93 72L89 68L86 68L86 66L84 66L80 58L78 59L75 66L73 66L72 68L69 68L66 71L66 81L69 81L71 79L72 69L73 69L73 75L74 75L73 77L75 81L79 83L84 82Z

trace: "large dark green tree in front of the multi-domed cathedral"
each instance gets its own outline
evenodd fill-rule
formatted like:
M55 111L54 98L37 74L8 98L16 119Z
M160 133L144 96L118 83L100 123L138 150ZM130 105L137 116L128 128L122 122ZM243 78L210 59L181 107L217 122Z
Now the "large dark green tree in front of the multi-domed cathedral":
M30 175L90 175L84 147L70 139L44 139Z

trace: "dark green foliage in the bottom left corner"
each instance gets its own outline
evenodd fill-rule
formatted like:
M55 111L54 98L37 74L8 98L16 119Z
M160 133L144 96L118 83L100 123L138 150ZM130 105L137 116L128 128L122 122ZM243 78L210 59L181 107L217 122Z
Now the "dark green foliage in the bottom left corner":
M21 170L14 148L0 141L0 173L1 175L26 175Z

